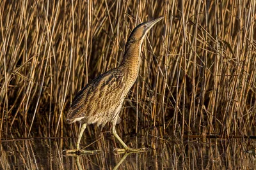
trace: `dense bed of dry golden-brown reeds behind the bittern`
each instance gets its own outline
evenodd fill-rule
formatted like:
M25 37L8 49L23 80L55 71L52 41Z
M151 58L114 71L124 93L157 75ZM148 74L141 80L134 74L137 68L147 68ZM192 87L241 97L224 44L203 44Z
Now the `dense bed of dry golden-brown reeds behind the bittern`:
M250 135L256 124L255 6L232 0L1 1L0 138L10 132L71 136L65 115L74 95L120 64L131 29L161 16L143 44L140 76L119 130Z

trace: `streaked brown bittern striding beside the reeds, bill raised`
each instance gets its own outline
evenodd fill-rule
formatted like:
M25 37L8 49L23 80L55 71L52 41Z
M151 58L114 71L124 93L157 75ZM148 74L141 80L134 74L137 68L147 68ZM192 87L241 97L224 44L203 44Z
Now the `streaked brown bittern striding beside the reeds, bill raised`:
M124 146L124 149L115 149L116 152L143 152L147 150L147 148L129 148L125 145L124 141L116 134L116 124L121 121L118 115L122 110L125 96L138 77L143 39L153 25L161 19L163 17L150 22L143 22L135 27L125 44L125 53L120 66L99 75L78 92L68 111L67 122L72 124L78 121L81 128L76 149L65 150L66 153L98 152L99 150L81 150L79 144L86 125L97 124L98 126L101 125L102 128L107 122L113 124L113 135Z

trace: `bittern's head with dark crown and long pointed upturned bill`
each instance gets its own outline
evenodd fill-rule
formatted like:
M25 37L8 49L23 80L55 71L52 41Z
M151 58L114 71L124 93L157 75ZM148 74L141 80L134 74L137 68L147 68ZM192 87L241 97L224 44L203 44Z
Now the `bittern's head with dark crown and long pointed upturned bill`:
M155 20L149 22L143 22L142 24L138 25L133 29L131 32L128 41L129 43L135 42L142 42L145 38L147 32L157 23L159 20L163 19L164 17L157 18Z

